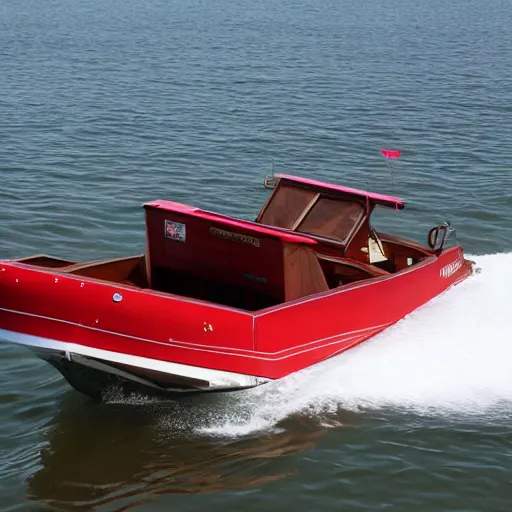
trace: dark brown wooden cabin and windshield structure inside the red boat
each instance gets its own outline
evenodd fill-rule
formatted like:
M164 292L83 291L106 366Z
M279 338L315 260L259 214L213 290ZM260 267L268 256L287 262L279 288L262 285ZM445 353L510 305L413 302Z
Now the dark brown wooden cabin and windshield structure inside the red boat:
M425 257L424 249L380 240L370 226L376 205L404 207L397 198L291 176L278 177L254 222L147 203L149 286L257 310L389 275Z

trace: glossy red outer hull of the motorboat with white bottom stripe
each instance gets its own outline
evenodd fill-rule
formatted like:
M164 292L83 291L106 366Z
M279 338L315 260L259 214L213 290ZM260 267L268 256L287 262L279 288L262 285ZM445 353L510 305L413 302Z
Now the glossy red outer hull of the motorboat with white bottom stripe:
M248 312L0 262L0 339L32 348L95 397L77 377L84 368L157 393L237 390L344 352L471 273L454 247L400 273Z

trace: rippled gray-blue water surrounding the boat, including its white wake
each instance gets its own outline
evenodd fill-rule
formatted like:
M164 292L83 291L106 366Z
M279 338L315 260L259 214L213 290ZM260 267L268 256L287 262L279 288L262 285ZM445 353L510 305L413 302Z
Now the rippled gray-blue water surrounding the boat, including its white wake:
M0 257L143 252L140 204L252 218L272 166L449 220L482 273L249 392L97 404L0 345L9 511L508 511L512 2L2 0ZM381 148L399 149L390 168Z

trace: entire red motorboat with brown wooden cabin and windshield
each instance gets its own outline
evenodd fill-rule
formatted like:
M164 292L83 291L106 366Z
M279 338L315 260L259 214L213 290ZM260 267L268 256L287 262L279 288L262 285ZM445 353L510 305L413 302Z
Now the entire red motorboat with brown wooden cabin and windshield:
M446 225L428 245L377 232L395 197L276 175L255 221L144 205L146 251L0 261L0 339L79 391L229 391L354 347L472 273Z

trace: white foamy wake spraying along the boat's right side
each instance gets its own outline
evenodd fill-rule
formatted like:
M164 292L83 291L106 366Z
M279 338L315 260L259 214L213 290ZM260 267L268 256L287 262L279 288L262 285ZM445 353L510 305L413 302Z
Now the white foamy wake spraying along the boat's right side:
M471 259L481 274L359 347L239 395L199 430L245 435L339 409L512 416L512 253Z

